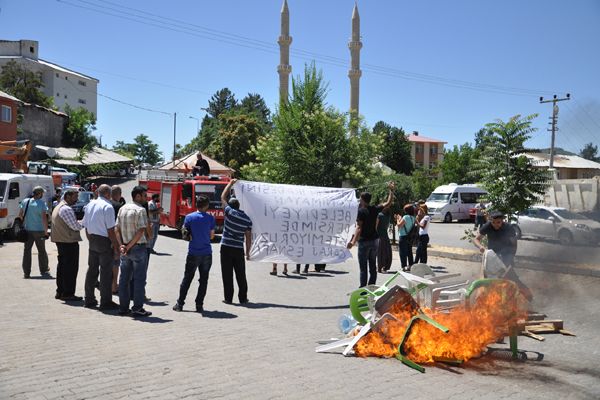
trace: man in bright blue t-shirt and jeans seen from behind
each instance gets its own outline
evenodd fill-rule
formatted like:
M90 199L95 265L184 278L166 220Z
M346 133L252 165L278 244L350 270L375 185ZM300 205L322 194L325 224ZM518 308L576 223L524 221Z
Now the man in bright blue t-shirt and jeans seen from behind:
M206 196L196 196L196 208L198 212L188 214L183 221L183 226L191 236L188 245L188 255L185 260L185 273L181 286L179 287L179 299L173 306L175 311L183 311L185 298L190 289L190 284L196 274L196 268L200 274L198 282L198 294L196 295L196 312L204 311L204 296L208 287L208 273L212 265L212 248L210 241L215 237L215 217L208 214L210 201Z

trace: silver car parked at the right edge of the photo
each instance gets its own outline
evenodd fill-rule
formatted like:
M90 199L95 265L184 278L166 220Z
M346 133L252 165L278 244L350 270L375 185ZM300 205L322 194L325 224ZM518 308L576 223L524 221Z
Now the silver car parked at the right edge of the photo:
M535 206L517 214L517 238L558 240L562 244L600 243L600 222L561 207Z

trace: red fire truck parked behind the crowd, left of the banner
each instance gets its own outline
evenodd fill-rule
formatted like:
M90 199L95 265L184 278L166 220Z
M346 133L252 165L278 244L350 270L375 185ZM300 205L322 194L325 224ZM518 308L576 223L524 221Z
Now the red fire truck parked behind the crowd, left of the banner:
M148 198L160 195L163 213L161 225L181 230L185 216L196 211L196 196L204 195L210 200L208 213L212 214L217 226L216 233L223 231L223 207L221 194L230 181L227 176L195 176L178 171L149 170L141 171L139 184L148 188Z

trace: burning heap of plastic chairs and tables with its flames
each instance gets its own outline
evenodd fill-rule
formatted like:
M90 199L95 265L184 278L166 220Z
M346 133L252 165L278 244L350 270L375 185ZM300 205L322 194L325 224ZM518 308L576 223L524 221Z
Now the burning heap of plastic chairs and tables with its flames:
M523 310L513 282L483 279L446 284L448 278L423 275L398 272L382 286L350 293L350 310L361 327L351 337L316 351L345 347L344 355L395 357L424 372L418 362L461 363L510 334L516 354L513 327L523 318Z

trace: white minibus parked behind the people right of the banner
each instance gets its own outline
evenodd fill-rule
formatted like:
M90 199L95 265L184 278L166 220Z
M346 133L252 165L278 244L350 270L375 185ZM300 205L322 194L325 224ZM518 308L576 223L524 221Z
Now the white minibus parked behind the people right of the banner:
M479 203L487 192L475 185L438 186L427 198L427 209L432 221L452 222L469 219L469 209Z

